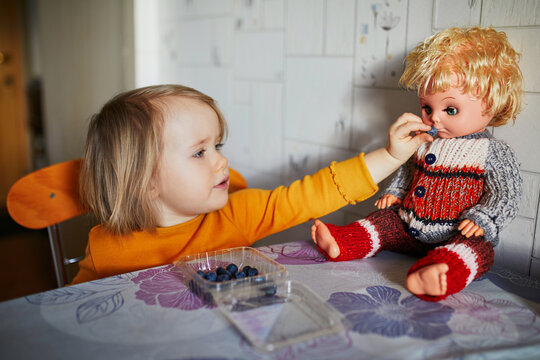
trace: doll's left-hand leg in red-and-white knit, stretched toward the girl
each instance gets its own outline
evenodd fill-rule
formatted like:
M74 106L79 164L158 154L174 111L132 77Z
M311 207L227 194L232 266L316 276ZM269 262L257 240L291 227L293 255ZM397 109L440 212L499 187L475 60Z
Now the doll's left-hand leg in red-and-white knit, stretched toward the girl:
M405 225L393 210L378 210L349 225L324 224L311 228L311 237L328 260L346 261L375 256L381 250L416 252ZM424 252L425 254L425 252Z

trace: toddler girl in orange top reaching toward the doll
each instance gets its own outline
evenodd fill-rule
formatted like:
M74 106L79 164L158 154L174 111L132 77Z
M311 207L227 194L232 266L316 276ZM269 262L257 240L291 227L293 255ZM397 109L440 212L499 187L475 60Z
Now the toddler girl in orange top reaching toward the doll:
M73 283L251 245L364 200L433 140L409 135L428 129L404 114L390 128L386 148L334 162L288 187L229 195L234 177L221 153L226 124L212 98L180 85L120 94L88 130L80 193L100 225L90 231Z

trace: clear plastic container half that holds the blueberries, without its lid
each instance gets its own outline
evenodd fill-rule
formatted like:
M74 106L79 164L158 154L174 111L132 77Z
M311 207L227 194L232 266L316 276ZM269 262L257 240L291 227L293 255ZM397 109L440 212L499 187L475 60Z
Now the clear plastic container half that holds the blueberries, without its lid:
M199 270L205 273L216 271L218 267L226 267L229 264L235 264L240 269L246 265L256 268L258 274L243 279L214 282L197 273ZM224 294L234 293L247 285L283 282L288 276L284 266L250 247L187 255L180 258L175 265L185 274L185 280L190 289L206 303L213 303Z

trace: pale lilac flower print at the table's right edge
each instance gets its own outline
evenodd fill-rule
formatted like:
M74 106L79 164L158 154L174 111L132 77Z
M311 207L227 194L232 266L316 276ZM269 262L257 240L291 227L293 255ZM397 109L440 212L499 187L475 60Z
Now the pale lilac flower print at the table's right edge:
M469 291L455 294L445 303L455 309L449 323L452 331L466 335L461 338L475 345L522 343L540 334L537 315L510 300L486 300Z

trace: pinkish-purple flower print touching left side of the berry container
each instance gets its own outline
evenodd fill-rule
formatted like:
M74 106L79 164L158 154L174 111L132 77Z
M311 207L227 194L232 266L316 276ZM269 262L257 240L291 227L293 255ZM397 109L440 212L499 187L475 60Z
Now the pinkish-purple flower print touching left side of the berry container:
M141 271L131 279L139 286L135 297L147 305L197 310L206 306L184 283L182 273L174 265Z

